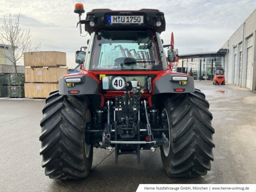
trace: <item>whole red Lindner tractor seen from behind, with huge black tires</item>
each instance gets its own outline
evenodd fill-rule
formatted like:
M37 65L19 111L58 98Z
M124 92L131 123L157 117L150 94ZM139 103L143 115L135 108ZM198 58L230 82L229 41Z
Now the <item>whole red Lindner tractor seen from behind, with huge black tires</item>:
M74 12L91 38L82 71L61 77L59 90L46 98L40 122L45 175L86 178L93 147L115 149L116 163L122 154L135 154L140 163L141 150L160 148L169 176L205 175L213 161L212 114L193 77L171 70L178 55L173 38L162 44L164 13L94 9L81 20L82 4ZM138 59L141 51L147 56Z

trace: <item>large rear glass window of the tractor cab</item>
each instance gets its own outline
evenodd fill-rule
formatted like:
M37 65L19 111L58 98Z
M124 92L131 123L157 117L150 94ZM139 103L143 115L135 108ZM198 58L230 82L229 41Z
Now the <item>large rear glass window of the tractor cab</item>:
M157 47L150 31L98 31L90 70L161 70Z

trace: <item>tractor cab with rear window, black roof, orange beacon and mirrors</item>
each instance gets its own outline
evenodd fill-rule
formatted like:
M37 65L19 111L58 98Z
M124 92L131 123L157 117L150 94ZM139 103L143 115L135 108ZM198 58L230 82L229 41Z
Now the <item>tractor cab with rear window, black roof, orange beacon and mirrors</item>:
M173 43L162 44L160 34L165 30L165 19L159 10L94 9L86 13L85 20L81 20L83 9L76 8L74 12L79 14L80 33L84 24L91 36L84 70L166 70L171 68L171 62L178 60L178 50L173 49ZM164 47L170 47L167 60ZM127 62L126 58L132 61Z

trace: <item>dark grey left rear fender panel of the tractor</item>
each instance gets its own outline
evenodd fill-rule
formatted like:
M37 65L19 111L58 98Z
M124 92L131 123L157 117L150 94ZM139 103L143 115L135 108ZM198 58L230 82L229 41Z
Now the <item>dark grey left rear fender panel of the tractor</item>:
M65 78L81 78L81 83L75 83L74 87L67 87ZM59 91L61 95L70 95L68 91L80 91L78 94L72 95L100 95L99 83L95 81L92 77L87 75L76 75L60 77L59 79Z

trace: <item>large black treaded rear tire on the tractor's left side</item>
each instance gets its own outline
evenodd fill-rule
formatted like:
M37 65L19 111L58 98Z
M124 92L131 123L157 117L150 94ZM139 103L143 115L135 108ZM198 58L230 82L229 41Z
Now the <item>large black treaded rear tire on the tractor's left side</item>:
M46 98L40 155L45 175L51 179L86 178L92 166L93 146L85 144L85 124L91 121L86 97L60 95Z

